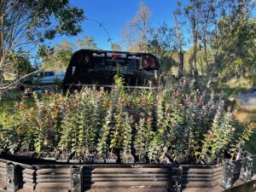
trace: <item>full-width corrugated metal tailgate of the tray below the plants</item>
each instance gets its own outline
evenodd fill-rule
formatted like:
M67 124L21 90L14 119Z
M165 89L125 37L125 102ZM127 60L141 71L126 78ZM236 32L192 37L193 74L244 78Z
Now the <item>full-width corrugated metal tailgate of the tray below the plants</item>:
M13 167L23 179L23 190L80 191L85 189L211 189L219 185L222 165L34 165L28 166L0 160L0 182L9 189L17 185L18 177L10 177L7 168ZM8 167L7 167L8 164ZM12 166L13 165L13 166ZM178 173L177 170L180 169ZM19 170L22 170L22 173ZM236 175L239 167L236 168ZM11 170L10 170L11 171ZM12 173L13 171L9 172ZM15 174L17 175L17 174ZM235 175L235 177L236 177ZM20 185L20 184L19 184ZM174 186L175 185L175 186Z

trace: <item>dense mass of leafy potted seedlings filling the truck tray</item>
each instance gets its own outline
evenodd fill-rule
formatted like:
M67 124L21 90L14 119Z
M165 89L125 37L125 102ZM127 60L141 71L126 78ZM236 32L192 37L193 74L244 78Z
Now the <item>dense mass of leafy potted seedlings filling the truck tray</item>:
M164 90L124 90L122 79L115 81L112 91L35 95L32 108L15 103L14 113L4 115L9 121L1 127L0 147L124 163L218 163L230 146L235 158L252 132L248 126L236 139L234 113L186 79Z

